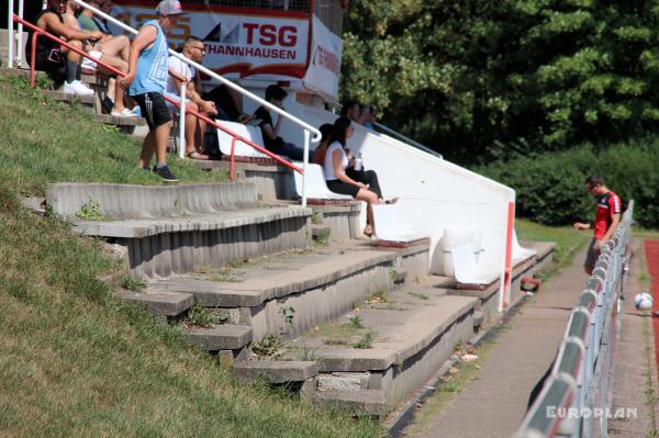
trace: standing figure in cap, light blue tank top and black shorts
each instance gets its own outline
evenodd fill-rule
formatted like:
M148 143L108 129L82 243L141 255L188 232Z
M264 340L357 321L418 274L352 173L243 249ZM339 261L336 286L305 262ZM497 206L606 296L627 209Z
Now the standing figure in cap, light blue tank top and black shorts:
M129 74L123 81L129 94L139 105L142 116L146 119L149 128L142 145L139 166L148 169L155 151L157 164L154 172L165 181L176 182L178 179L167 167L171 115L163 97L167 89L168 75L168 46L164 30L169 31L183 11L179 1L163 0L158 3L156 13L158 20L144 23L131 44Z

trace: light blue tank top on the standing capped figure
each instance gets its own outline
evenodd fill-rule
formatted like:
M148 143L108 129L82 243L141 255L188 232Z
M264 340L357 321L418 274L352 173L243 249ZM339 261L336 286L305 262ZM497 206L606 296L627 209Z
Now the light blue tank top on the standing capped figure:
M137 72L129 87L130 96L147 92L164 93L167 89L167 38L157 20L149 20L144 26L156 26L158 36L150 47L145 48L137 58Z

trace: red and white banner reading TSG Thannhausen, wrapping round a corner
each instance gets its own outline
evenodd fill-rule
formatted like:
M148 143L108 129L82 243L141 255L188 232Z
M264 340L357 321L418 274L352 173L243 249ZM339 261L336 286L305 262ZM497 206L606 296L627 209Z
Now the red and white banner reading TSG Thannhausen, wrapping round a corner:
M139 29L157 19L152 3L115 0L112 14ZM284 80L292 88L337 97L343 42L315 15L185 3L183 10L186 15L168 32L168 42L178 46L190 35L203 40L204 67L228 79Z

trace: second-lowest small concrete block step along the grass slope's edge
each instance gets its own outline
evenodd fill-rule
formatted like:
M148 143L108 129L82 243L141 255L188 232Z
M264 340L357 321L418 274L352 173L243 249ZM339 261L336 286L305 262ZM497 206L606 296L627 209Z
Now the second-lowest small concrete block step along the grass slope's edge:
M304 382L317 372L314 361L253 360L234 363L236 377L245 380L264 379L270 383Z

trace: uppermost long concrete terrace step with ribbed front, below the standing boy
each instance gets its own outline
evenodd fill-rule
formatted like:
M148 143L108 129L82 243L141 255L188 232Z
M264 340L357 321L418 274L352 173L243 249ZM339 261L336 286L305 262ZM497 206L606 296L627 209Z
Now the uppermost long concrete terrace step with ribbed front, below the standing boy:
M311 244L310 209L263 206L249 183L52 184L47 203L78 233L114 239L138 277L193 272ZM76 215L90 204L97 221Z

